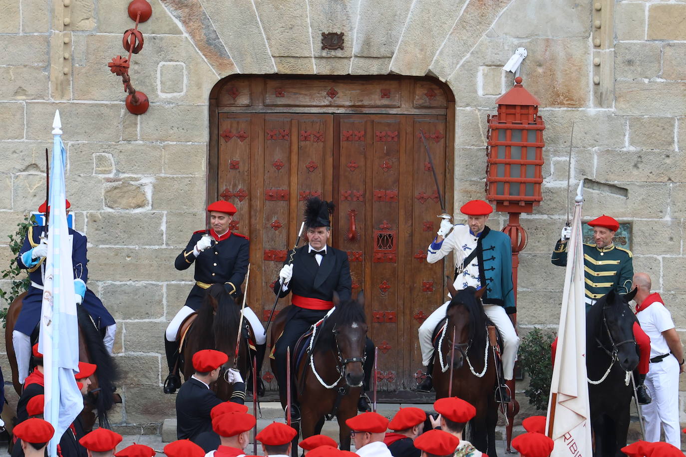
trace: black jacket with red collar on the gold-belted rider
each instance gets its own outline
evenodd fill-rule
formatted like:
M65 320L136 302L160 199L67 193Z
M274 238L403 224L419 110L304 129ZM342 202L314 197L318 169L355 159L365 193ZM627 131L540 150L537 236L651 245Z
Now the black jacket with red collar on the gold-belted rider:
M212 247L205 249L196 258L193 247L196 246L205 230L193 233L186 249L181 251L174 261L177 270L185 270L195 262L196 273L193 275L196 282L203 284L227 284L228 291L238 290L243 284L248 272L248 257L250 254L250 241L244 235L232 232L227 238L222 236L221 241L213 243ZM214 233L211 231L211 233ZM229 285L230 284L230 285ZM198 310L205 296L205 288L194 285L186 299L186 306Z

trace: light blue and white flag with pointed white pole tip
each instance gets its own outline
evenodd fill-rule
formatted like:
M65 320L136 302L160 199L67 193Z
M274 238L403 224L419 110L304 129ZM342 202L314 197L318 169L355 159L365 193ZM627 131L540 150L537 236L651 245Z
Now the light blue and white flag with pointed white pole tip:
M74 379L79 363L79 328L71 262L73 240L67 226L65 203L64 165L67 152L60 138L62 124L59 111L55 113L52 126L54 143L48 201L50 218L38 345L43 352L45 370L45 420L55 428L48 454L57 457L57 444L83 409L83 397Z

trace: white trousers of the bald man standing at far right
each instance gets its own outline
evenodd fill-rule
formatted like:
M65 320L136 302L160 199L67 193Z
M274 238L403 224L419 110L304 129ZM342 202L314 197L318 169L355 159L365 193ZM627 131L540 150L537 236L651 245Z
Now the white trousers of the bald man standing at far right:
M665 441L681 449L679 427L679 362L674 356L651 363L646 375L646 387L652 402L641 405L646 423L646 441L660 441L660 425L665 429Z

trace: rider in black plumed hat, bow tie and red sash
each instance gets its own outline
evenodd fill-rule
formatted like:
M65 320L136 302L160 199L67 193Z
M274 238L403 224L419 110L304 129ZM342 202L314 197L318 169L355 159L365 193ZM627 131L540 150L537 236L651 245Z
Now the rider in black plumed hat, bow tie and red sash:
M307 245L295 250L292 260L286 259L279 272L279 280L274 282L274 293L285 297L292 293L283 334L276 341L274 359L276 361L276 380L279 393L286 395L286 353L311 325L320 321L333 309L333 294L337 293L341 303L351 299L353 281L350 275L348 254L327 245L331 236L333 202L310 197L305 202L305 227ZM364 390L369 386L369 378L374 366L374 346L369 338L365 348ZM292 421L300 419L298 408L291 408ZM358 409L370 410L366 395L359 400Z

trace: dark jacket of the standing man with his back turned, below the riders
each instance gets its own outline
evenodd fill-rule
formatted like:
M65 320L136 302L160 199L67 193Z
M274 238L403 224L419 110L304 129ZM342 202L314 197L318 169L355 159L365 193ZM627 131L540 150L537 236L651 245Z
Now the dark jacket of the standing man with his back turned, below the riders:
M191 378L176 394L176 439L195 441L202 432L212 430L210 410L222 403L205 384Z

